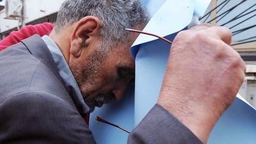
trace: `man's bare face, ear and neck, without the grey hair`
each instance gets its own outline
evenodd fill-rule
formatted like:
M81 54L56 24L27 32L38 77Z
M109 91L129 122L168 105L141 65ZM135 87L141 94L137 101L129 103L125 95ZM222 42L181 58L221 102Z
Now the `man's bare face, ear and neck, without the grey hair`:
M135 77L135 62L130 46L138 34L126 43L103 44L100 20L87 16L50 37L60 47L75 76L85 103L94 111L111 100L120 100L127 85ZM141 28L138 28L141 30Z

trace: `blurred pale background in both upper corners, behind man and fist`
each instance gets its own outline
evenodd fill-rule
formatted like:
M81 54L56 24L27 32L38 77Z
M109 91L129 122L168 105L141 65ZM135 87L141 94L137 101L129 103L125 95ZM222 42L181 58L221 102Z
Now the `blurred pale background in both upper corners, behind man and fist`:
M57 11L63 1L0 0L0 40L24 25L55 23ZM154 5L155 10L166 0L158 1L159 5ZM144 5L151 5L148 0L142 2ZM232 47L247 63L246 78L239 94L256 107L256 1L212 0L205 15L199 19L201 23L222 25L231 29Z

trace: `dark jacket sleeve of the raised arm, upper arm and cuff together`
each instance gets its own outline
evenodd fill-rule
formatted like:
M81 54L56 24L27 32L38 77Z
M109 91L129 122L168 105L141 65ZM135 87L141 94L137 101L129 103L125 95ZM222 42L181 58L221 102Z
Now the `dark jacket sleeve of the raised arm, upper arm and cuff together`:
M87 124L66 101L25 91L0 104L0 143L95 143ZM128 143L201 143L167 110L155 105Z

